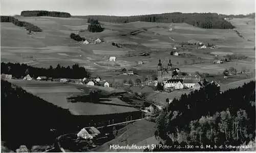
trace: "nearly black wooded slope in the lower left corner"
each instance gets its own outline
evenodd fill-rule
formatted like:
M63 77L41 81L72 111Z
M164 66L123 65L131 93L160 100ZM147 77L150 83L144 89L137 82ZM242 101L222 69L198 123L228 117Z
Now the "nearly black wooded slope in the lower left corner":
M68 110L1 80L1 123L2 141L9 149L15 150L20 145L28 148L52 145L56 137L68 131L72 115ZM58 133L51 132L51 129L58 129Z

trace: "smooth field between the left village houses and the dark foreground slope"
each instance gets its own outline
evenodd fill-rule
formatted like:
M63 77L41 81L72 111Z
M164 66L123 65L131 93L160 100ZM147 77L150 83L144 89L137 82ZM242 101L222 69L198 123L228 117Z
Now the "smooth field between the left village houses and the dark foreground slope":
M117 99L110 98L107 101L102 99L101 103L82 103L68 102L67 98L72 95L89 94L90 89L101 90L102 94L111 94L124 92L122 90L105 88L102 86L88 86L72 83L47 82L47 81L28 81L28 80L8 80L9 82L21 86L27 92L32 93L54 105L68 109L73 115L101 115L114 114L120 112L138 111L133 107L127 107L127 103ZM119 105L111 105L111 103Z

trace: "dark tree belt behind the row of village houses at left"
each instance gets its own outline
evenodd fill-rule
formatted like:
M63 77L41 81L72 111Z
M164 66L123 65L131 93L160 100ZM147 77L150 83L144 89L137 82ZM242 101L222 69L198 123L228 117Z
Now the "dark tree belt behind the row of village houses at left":
M60 64L56 68L50 66L48 69L45 68L35 68L27 64L20 63L5 63L1 62L1 74L11 74L14 78L22 79L26 75L37 78L38 76L46 76L52 78L89 78L91 73L85 68L79 67L78 64L72 65L72 67L60 67Z

